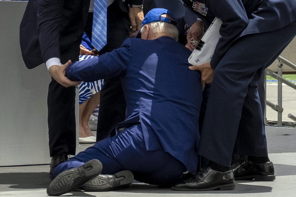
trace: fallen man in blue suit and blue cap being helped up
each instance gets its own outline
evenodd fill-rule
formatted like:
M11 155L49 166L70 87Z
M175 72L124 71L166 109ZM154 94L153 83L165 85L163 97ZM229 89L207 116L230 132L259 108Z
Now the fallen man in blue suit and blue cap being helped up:
M74 81L121 76L127 118L108 138L59 164L48 195L122 188L133 179L174 185L196 173L202 86L200 72L188 69L191 51L176 41L176 25L168 10L152 9L142 39L127 38L110 53L62 65Z

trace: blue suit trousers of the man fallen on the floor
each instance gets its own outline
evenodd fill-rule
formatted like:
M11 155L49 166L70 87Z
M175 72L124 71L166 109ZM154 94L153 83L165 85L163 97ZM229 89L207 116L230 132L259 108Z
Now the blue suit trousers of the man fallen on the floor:
M154 185L174 185L185 177L184 172L187 171L182 162L167 152L147 151L141 125L133 125L59 164L52 179L62 171L79 167L91 159L102 162L102 174L130 170L135 180Z

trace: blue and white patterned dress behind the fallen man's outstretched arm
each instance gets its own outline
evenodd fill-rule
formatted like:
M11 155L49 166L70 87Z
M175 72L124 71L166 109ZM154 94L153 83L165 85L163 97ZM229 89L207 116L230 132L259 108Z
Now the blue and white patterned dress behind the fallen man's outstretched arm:
M93 58L93 55L80 55L79 61ZM104 80L94 82L81 82L79 84L79 105L91 98L95 93L99 92L103 87Z

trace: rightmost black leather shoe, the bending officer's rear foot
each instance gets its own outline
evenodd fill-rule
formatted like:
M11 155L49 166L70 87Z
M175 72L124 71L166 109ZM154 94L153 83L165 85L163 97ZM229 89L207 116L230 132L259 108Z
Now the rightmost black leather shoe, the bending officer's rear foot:
M232 172L235 180L255 179L257 181L273 181L276 179L272 162L257 164L246 160L233 169Z

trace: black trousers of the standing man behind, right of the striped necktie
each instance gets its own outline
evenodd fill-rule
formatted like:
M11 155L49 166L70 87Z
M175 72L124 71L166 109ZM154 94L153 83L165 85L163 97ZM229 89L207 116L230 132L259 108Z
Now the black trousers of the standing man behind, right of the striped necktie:
M100 54L110 52L121 46L129 37L131 26L127 12L123 12L114 1L107 8L107 44ZM104 86L100 94L100 109L96 141L108 136L109 131L125 118L126 101L123 94L120 77L104 79Z

